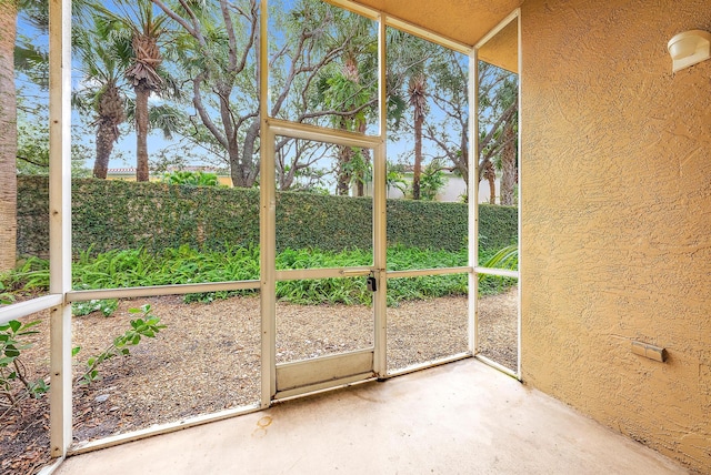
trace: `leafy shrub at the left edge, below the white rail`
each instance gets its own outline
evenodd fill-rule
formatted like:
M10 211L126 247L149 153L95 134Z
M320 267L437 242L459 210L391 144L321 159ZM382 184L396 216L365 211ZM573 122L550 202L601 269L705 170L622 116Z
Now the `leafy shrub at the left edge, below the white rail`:
M28 380L27 368L21 358L22 351L31 346L27 336L38 333L30 329L39 323L11 320L0 325L0 395L7 400L10 407L27 397L40 397L49 388L43 378Z

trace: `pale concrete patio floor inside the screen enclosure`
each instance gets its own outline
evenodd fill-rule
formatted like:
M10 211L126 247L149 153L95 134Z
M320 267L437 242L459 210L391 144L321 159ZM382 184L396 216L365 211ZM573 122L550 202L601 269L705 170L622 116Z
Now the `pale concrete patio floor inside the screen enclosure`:
M70 457L59 474L680 474L475 360Z

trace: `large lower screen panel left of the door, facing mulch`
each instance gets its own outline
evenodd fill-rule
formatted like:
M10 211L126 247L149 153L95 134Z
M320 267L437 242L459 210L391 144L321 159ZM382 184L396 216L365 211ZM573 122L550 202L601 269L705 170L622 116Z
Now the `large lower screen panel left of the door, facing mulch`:
M134 326L139 320L144 325ZM260 322L256 292L124 300L109 316L76 316L76 439L258 404ZM120 338L126 344L117 345Z

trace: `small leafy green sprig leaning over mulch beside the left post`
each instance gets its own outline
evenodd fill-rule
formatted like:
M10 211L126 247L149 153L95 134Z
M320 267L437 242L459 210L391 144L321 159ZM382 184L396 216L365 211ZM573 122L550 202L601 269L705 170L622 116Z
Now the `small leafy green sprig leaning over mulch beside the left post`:
M131 355L131 346L141 343L141 337L154 338L166 325L160 323L160 316L153 315L150 305L143 305L140 309L129 309L130 313L139 313L138 319L131 320L131 327L122 335L113 338L113 342L107 346L101 353L87 360L84 373L79 376L77 382L81 385L89 385L101 378L98 367L114 356L128 357ZM74 348L73 354L79 353L79 348Z

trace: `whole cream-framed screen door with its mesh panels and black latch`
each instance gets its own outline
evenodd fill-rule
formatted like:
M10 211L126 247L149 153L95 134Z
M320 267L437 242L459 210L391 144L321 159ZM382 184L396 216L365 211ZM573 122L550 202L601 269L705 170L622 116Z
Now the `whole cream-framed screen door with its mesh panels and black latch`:
M383 351L375 341L380 272L368 186L377 142L280 121L268 121L268 130L262 252L273 256L263 300L271 394L289 397L373 377L375 353Z

